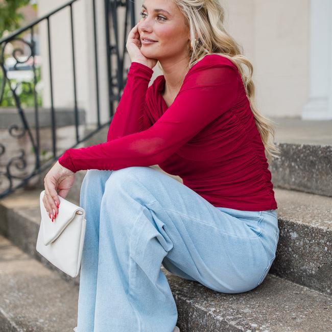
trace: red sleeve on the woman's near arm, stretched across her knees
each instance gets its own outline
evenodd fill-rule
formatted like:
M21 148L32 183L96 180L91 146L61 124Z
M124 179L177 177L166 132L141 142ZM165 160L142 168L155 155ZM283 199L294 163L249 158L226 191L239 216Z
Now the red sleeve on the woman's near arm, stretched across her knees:
M59 162L73 172L159 164L232 107L239 80L235 65L205 57L189 69L173 104L150 128L106 143L68 149Z

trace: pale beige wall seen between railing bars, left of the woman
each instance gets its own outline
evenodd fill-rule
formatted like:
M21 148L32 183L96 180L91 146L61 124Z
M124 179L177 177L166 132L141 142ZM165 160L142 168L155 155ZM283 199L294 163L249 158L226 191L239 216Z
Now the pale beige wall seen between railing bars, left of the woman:
M67 0L38 0L38 16L59 8ZM104 2L96 1L97 39L99 62L99 94L101 122L109 118L107 59L105 42ZM94 37L92 2L79 0L73 3L75 38L75 66L77 103L86 111L87 123L97 122L96 75L94 64ZM72 39L70 32L69 7L56 13L50 19L51 55L53 73L53 99L55 107L74 107L74 79L72 61ZM44 81L43 104L51 106L49 51L46 21L40 24L40 51L43 58L42 77Z

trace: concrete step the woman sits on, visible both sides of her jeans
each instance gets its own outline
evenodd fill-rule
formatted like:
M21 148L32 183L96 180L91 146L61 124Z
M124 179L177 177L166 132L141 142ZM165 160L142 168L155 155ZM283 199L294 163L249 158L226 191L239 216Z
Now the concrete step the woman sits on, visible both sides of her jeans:
M78 287L1 235L0 257L1 331L72 331ZM224 294L161 269L182 332L327 331L332 324L330 296L273 275L252 291Z

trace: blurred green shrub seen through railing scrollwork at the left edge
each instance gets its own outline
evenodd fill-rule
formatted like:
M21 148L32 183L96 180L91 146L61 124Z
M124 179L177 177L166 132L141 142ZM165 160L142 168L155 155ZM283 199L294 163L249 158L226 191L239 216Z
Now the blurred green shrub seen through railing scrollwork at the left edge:
M41 72L41 68L36 67L36 84L38 82L40 82L40 72ZM2 85L3 85L3 80L4 80L3 73L0 72L0 87L2 87ZM13 84L13 86L15 86L17 83L17 80L11 79L10 82L11 82L11 84ZM21 107L22 108L33 107L35 105L35 97L34 97L34 91L33 91L34 82L33 81L31 81L31 82L22 81L19 84L20 84L20 86L16 89L16 94L20 101ZM42 99L41 99L40 92L36 91L36 93L37 93L37 105L41 106ZM4 90L4 97L3 97L2 102L0 103L0 107L9 107L9 106L17 106L17 105L15 103L13 93L10 89L9 81L7 80L6 85L5 85L5 90Z

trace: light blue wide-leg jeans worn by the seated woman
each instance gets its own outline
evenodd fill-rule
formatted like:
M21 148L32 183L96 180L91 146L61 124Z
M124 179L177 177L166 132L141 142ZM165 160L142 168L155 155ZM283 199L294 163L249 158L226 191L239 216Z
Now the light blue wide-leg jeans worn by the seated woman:
M222 293L257 287L275 258L276 210L215 207L151 167L88 170L78 332L172 332L177 307L161 265Z

